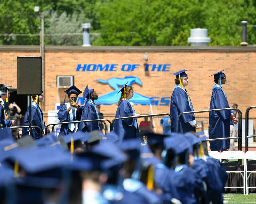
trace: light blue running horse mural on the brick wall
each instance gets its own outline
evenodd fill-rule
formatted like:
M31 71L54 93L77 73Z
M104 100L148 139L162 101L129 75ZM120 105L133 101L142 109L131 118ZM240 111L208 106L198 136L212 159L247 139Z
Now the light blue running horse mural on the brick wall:
M108 80L103 79L97 79L96 81L102 83L102 84L109 84L109 86L115 90L119 90L119 87L122 87L125 85L125 83L128 81L127 85L131 86L133 83L139 84L142 86L142 82L140 81L139 77L134 76L125 76L124 78L110 78Z

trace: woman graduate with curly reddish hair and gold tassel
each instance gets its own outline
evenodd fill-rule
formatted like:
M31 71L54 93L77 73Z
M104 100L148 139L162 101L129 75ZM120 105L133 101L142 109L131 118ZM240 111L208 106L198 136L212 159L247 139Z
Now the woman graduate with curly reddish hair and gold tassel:
M128 101L133 97L133 94L134 94L133 87L124 85L124 87L120 91L121 91L121 97L117 103L118 107L116 110L115 118L139 116L139 114L136 114L134 108ZM116 120L114 122L113 127L116 134L119 135L120 141L127 138L135 138L139 136L139 129L138 129L138 123L136 118Z

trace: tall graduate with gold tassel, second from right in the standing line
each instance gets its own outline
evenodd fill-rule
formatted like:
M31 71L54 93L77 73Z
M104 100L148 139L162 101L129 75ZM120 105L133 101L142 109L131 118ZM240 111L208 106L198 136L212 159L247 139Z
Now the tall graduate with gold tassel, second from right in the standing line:
M173 73L176 75L175 87L171 96L171 116L173 120L173 132L178 132L178 117L182 112L194 111L192 102L188 96L185 86L188 85L187 70ZM180 117L180 133L189 131L196 132L197 123L193 113L183 114Z

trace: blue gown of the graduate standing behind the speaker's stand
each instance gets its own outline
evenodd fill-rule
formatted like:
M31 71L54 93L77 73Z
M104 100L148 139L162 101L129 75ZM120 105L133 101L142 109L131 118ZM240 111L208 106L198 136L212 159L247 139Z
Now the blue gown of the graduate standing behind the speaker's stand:
M43 134L43 131L46 128L45 122L44 122L44 117L43 117L43 112L42 112L42 110L39 106L36 110L36 107L32 105L31 110L32 110L31 117L33 119L32 122L31 122L31 125L39 126L42 129L42 134ZM43 120L43 124L41 122L40 114L41 114L41 117L42 117L42 120ZM23 126L28 126L28 125L29 125L29 106L28 106L27 112L26 112L25 117L24 117ZM23 128L22 129L22 134L21 134L22 137L25 136L25 135L28 135L27 130L28 130L28 128ZM40 138L40 130L38 128L35 128L34 130L31 131L31 136L33 137L33 139Z

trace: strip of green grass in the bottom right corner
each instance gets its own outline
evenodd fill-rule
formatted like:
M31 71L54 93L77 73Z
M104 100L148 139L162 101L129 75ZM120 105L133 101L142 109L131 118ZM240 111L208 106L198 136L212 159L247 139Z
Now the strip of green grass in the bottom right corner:
M224 194L225 204L231 203L256 203L256 194L241 195L241 194Z

